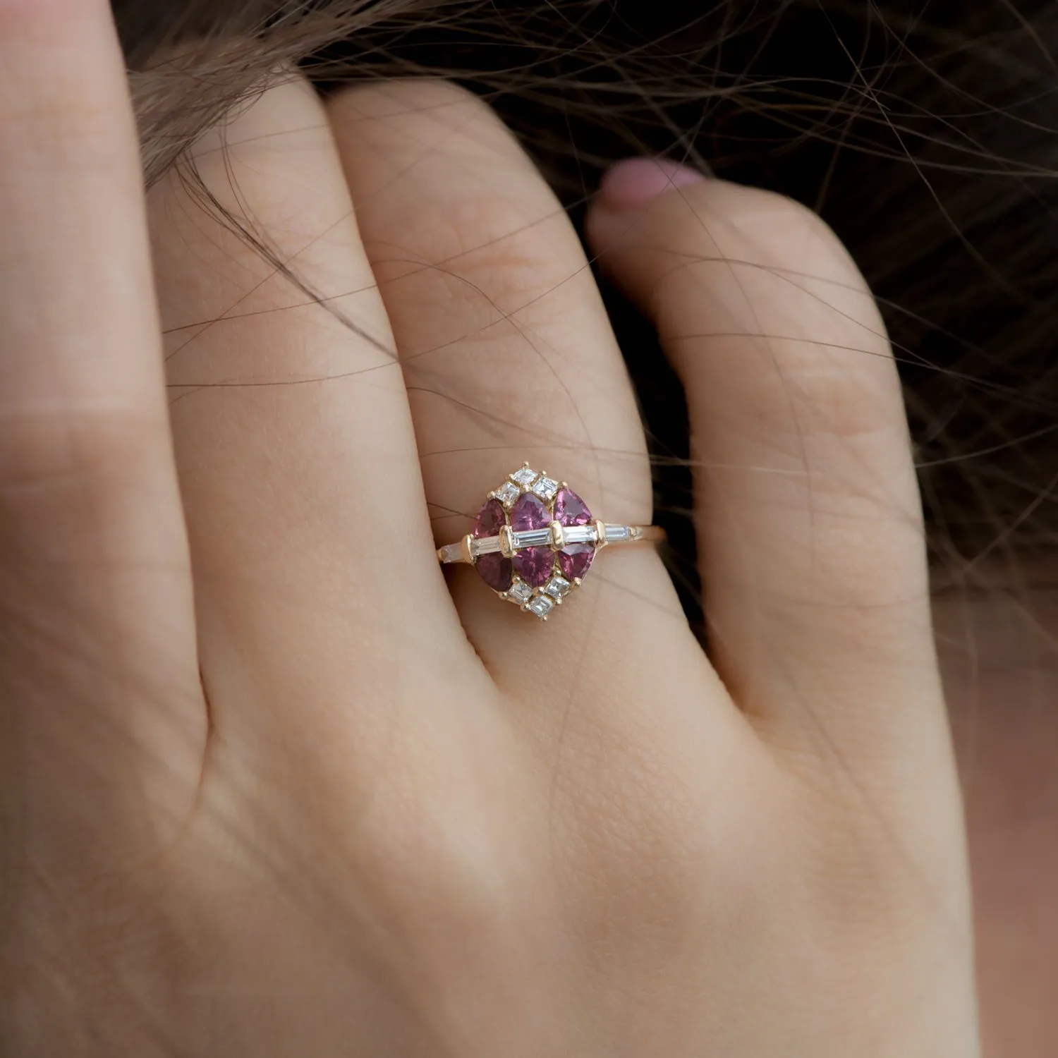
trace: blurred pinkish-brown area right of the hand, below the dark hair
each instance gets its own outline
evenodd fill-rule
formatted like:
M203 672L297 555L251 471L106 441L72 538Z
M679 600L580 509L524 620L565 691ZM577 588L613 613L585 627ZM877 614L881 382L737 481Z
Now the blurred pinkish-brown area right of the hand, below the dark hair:
M1058 1053L1058 592L1053 562L934 604L965 794L984 1054ZM1048 586L1050 585L1050 586Z

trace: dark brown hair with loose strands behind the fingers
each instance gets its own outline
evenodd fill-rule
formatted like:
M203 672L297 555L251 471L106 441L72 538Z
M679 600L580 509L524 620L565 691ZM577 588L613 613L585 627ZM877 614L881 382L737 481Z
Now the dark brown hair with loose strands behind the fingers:
M1058 536L1058 264L1043 0L115 0L148 184L277 68L322 92L470 87L574 221L602 170L668 153L811 205L849 245L906 383L934 561L1030 560ZM682 395L603 282L642 402L658 519L697 615ZM650 369L646 369L650 365Z

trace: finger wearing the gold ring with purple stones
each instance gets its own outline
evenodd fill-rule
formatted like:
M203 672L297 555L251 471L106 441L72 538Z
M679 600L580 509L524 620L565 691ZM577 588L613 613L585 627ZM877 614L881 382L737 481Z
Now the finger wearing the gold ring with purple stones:
M394 323L438 543L468 532L523 460L569 481L606 522L649 523L620 352L576 234L510 132L440 81L357 88L330 113ZM585 672L589 641L646 650L688 635L651 550L600 557L547 630L456 574L464 625L494 670L521 675L526 651L558 651Z

